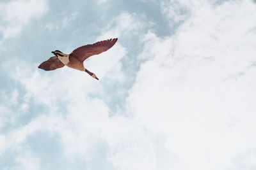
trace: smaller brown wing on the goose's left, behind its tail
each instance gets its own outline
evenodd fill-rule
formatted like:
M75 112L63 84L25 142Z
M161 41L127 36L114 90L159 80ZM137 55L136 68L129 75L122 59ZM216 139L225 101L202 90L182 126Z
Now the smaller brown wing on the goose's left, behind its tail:
M38 66L38 68L44 69L45 71L50 71L50 70L58 69L63 66L65 65L58 59L58 57L54 56L46 60L45 62L42 62L40 66Z

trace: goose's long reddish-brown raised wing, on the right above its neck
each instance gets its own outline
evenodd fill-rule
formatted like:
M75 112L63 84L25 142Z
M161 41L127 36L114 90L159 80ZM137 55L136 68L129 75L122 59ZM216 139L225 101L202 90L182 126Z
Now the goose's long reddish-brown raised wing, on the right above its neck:
M117 41L117 38L114 38L114 39L99 41L92 45L80 46L79 48L76 48L76 50L74 50L72 53L70 53L70 56L76 57L80 61L84 61L85 59L87 59L92 55L106 52L106 50L108 50L113 45L115 45L116 41Z

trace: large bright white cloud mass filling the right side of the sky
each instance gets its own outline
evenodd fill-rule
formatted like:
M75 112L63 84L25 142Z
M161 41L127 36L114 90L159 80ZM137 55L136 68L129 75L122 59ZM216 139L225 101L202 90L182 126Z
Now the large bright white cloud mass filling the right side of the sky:
M145 36L127 108L166 136L177 169L228 169L256 148L255 11L251 1L200 3L175 35Z

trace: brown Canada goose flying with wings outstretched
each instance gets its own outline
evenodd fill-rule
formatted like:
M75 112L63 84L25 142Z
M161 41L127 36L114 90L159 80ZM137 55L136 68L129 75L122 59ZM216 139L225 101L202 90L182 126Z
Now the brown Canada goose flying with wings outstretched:
M93 78L99 80L99 78L97 78L97 76L94 73L84 68L83 62L92 55L97 55L109 50L109 48L115 45L117 39L118 38L111 38L104 41L98 41L94 44L80 46L79 48L73 50L70 54L63 53L60 50L55 50L54 52L52 52L54 56L42 62L38 66L38 68L44 69L45 71L51 71L64 66L68 66L72 69L85 71L86 73L90 74L90 76L92 76Z

